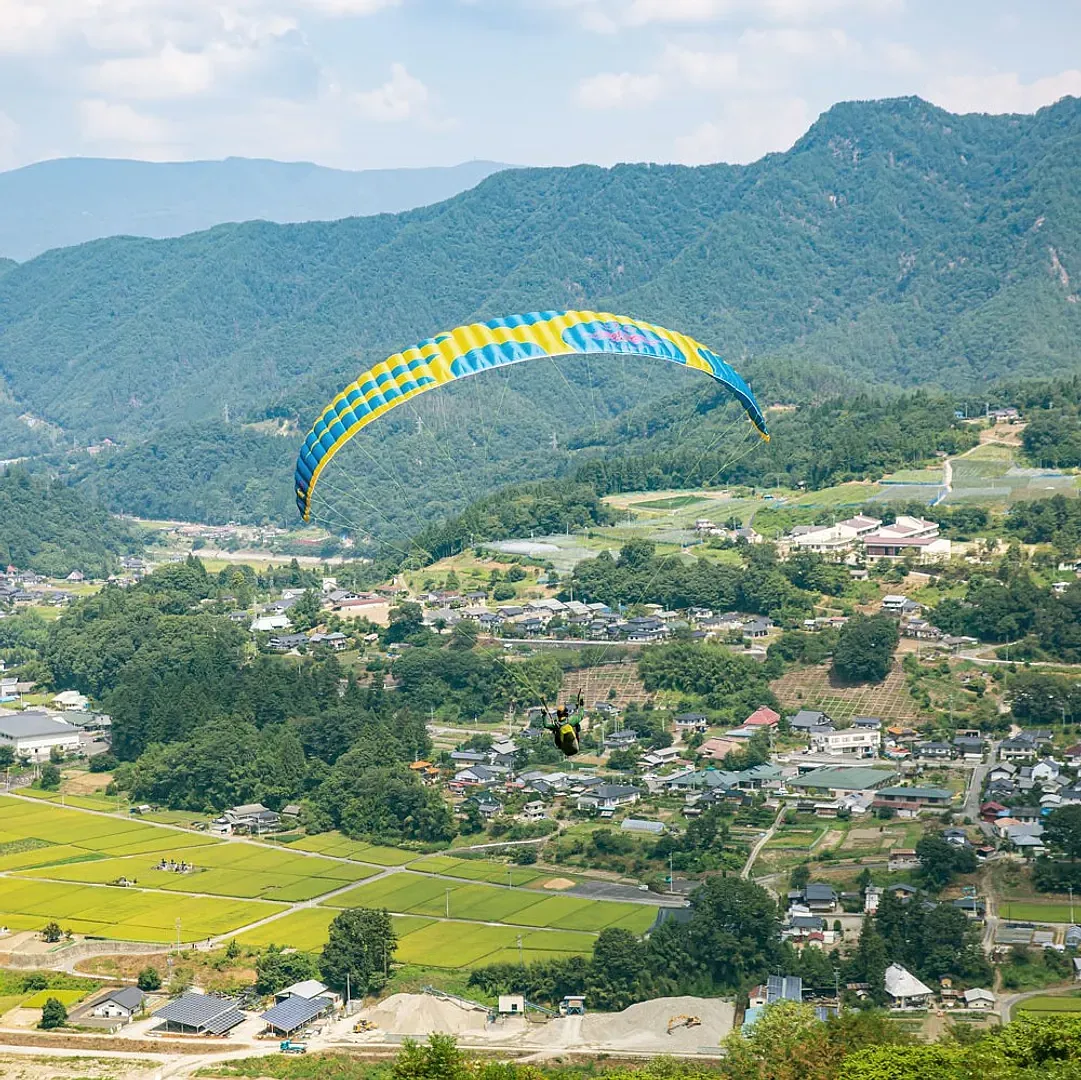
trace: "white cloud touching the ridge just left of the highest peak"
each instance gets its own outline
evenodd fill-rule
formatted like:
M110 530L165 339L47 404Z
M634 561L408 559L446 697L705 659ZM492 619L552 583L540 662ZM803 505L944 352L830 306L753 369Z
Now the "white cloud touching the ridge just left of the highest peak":
M757 161L763 154L788 149L811 120L802 97L733 99L715 120L676 139L676 160L689 165Z

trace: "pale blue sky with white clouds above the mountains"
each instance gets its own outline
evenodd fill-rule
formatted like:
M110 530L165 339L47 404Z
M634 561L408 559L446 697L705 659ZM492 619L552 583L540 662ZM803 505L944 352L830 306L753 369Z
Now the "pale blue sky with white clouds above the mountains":
M839 101L1081 96L1079 0L0 0L0 169L747 162Z

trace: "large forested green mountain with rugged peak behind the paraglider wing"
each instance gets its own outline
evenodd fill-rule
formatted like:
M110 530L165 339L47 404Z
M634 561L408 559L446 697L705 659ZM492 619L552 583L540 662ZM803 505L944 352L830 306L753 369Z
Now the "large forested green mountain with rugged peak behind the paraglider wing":
M158 465L141 440L175 450L171 429L226 408L219 445L238 462L264 458L245 440L272 438L238 421L296 424L256 492L289 485L301 429L363 364L508 311L592 306L684 329L766 401L1065 372L1081 366L1079 162L1077 99L958 117L905 98L839 105L747 166L513 170L397 216L104 240L0 278L0 372L36 415L125 442L133 469ZM424 485L432 520L565 470L568 439L596 449L636 404L681 388L703 400L663 364L553 366L429 395L377 425L370 453L398 489ZM708 444L702 416L686 438ZM123 507L131 488L114 479L98 490ZM229 516L250 515L240 476L230 486Z

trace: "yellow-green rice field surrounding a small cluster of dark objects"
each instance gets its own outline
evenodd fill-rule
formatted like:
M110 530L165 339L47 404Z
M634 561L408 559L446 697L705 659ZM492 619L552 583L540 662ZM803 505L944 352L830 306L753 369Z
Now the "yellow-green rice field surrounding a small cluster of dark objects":
M182 835L183 836L183 835ZM158 869L161 859L185 862L186 872ZM24 870L21 877L86 884L112 884L121 878L144 889L278 899L313 899L378 871L373 867L338 863L318 855L253 843L224 843L177 852L156 851L123 858L49 866Z

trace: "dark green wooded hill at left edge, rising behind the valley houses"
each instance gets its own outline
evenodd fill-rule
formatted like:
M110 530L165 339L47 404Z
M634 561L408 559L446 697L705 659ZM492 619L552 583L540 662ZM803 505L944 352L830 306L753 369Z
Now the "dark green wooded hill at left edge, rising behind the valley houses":
M0 475L0 565L66 577L106 577L142 546L138 531L58 481L18 468Z

